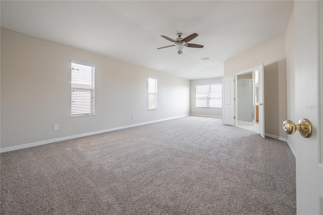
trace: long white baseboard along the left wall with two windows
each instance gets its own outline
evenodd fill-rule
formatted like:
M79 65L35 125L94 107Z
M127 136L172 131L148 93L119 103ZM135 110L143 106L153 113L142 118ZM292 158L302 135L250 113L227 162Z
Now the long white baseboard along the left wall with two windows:
M183 116L171 117L171 118L149 121L149 122L144 122L144 123L138 123L138 124L133 124L133 125L128 125L128 126L121 126L121 127L117 127L117 128L110 128L110 129L105 129L105 130L100 130L100 131L93 131L93 132L89 132L89 133L76 134L76 135L72 135L72 136L60 137L60 138L55 138L55 139L50 139L50 140L43 140L43 141L34 142L34 143L26 143L26 144L17 145L17 146L1 148L0 153L7 152L7 151L14 151L14 150L23 149L23 148L29 148L29 147L33 147L33 146L37 146L37 145L44 145L44 144L63 141L63 140L74 139L74 138L78 138L78 137L85 137L85 136L90 136L90 135L94 135L94 134L100 134L100 133L109 132L109 131L116 131L116 130L120 130L120 129L131 128L131 127L146 125L146 124L150 124L150 123L157 123L157 122L166 121L166 120L173 120L176 118L187 117L187 116L190 116L190 115L183 115Z

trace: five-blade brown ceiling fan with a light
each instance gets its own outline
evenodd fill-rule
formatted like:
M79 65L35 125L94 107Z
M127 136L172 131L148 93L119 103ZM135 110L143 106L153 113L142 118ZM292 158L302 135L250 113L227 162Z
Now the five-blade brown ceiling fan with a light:
M157 49L161 49L161 48L168 48L168 47L172 47L172 46L175 46L175 49L177 50L178 54L180 55L181 53L183 53L183 49L184 47L190 47L190 48L203 48L204 45L198 45L198 44L193 44L193 43L187 43L189 41L191 41L192 39L194 39L195 37L198 36L197 33L193 33L185 38L182 38L182 33L177 33L177 36L178 38L176 39L172 39L172 38L169 38L167 36L164 36L164 35L160 35L161 37L171 41L171 42L174 42L175 44L174 45L168 45L168 46L164 46L164 47L160 47L160 48L157 48Z

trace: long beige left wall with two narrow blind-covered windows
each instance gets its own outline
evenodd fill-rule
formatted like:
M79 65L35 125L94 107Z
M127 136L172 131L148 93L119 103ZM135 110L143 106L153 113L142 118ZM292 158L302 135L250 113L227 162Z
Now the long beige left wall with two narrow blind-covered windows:
M71 60L95 65L95 116L70 116ZM1 148L190 112L189 80L5 28L1 62ZM158 79L157 111L147 111L148 76Z

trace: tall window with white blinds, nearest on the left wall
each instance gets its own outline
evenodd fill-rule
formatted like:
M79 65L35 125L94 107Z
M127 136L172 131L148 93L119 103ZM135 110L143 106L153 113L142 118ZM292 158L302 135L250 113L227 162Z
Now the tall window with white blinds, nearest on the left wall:
M94 65L72 61L72 117L94 115L94 69Z

